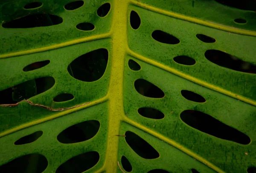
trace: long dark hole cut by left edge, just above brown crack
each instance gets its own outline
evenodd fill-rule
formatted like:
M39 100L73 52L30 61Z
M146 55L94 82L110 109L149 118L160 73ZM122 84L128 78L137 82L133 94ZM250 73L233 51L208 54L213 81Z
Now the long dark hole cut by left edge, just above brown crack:
M0 91L0 104L16 104L24 99L27 100L51 89L54 84L54 78L47 76L12 86Z

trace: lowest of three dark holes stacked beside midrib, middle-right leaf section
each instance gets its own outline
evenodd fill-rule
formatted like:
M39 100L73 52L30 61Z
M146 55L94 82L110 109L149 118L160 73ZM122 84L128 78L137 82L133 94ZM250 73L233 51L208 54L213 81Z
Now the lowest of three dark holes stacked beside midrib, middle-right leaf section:
M156 110L154 108L150 107L141 107L138 110L139 114L146 117L146 118L152 118L152 119L162 119L164 118L163 112Z

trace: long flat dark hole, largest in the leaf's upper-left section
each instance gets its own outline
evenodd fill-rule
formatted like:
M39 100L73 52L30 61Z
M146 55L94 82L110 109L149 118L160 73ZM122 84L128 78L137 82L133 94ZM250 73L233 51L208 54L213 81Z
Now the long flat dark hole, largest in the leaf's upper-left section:
M16 20L3 23L4 28L35 28L58 25L63 22L61 17L52 14L31 14Z

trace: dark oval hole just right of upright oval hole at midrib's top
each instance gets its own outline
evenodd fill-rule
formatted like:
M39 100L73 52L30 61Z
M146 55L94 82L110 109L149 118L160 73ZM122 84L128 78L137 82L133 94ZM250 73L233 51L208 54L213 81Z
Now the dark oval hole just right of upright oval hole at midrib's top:
M154 40L157 40L160 43L166 43L166 44L178 44L180 43L180 40L177 39L175 36L170 35L166 32L160 31L160 30L155 30L152 32L152 38Z

